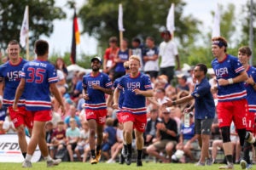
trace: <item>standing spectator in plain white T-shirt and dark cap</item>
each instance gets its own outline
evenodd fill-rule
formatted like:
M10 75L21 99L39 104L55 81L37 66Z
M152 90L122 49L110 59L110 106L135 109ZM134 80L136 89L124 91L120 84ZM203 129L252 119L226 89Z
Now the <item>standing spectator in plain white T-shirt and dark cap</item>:
M170 31L163 31L161 37L163 37L164 41L160 43L159 48L159 57L161 58L159 75L166 75L168 81L172 82L176 62L177 70L180 70L177 45L172 41Z

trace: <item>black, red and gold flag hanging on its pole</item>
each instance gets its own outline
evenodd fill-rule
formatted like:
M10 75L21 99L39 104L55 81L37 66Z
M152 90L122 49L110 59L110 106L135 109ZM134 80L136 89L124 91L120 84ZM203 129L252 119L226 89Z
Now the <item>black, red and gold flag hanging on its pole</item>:
M72 47L71 47L71 54L70 59L72 64L76 64L76 51L77 45L80 43L80 33L79 33L79 24L78 24L78 17L76 11L73 14L73 37L72 37Z

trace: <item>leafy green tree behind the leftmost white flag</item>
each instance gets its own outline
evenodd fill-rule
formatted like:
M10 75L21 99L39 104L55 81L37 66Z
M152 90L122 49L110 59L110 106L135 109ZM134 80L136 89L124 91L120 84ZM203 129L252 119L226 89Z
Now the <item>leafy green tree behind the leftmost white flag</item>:
M12 40L20 40L20 27L26 5L29 6L30 44L39 36L49 37L53 20L64 19L66 14L55 7L55 0L5 0L0 1L0 48L6 48Z

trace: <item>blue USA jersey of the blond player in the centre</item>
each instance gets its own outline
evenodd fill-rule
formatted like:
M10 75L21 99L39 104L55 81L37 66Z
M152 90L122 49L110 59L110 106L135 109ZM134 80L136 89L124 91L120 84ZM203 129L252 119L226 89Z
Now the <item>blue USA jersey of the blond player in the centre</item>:
M145 114L146 113L146 97L143 95L136 95L134 89L148 90L152 89L150 78L143 74L139 73L137 77L131 77L125 75L121 77L118 88L124 90L125 97L122 105L123 111L128 111L133 114Z

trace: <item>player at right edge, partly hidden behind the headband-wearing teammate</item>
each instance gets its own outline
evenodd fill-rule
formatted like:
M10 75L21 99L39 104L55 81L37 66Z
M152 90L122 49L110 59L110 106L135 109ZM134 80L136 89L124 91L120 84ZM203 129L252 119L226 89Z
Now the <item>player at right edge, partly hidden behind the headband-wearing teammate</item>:
M256 113L256 68L249 65L249 60L252 55L252 51L248 47L241 47L238 50L238 59L247 71L248 79L244 83L247 89L247 132L255 133L255 113ZM249 152L252 150L252 144L245 142L244 155L241 158L241 167L246 169L251 165Z

